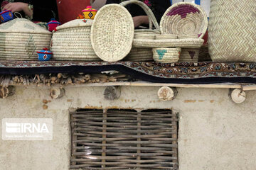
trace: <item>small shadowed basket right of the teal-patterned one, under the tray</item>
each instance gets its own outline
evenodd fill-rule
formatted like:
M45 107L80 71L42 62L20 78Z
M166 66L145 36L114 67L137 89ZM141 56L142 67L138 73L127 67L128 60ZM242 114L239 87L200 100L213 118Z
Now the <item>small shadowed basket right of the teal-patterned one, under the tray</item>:
M199 49L182 48L178 62L198 62Z

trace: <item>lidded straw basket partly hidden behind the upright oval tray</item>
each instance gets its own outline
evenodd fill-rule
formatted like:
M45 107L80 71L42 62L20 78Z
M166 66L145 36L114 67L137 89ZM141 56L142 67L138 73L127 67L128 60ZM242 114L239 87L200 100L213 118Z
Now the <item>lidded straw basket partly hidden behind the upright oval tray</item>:
M50 47L53 60L100 61L90 41L92 21L77 19L58 26Z

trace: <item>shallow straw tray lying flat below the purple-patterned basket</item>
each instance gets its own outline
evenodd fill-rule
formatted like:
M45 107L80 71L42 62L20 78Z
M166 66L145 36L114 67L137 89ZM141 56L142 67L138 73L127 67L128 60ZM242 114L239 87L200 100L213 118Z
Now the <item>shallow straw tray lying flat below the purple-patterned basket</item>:
M172 39L172 40L142 40L134 39L134 47L186 47L200 48L203 45L203 39Z

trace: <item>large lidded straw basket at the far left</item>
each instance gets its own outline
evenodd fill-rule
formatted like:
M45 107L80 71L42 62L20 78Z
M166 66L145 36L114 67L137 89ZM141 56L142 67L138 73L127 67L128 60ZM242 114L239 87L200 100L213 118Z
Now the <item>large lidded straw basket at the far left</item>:
M38 60L36 51L48 48L52 33L24 18L0 25L0 60Z

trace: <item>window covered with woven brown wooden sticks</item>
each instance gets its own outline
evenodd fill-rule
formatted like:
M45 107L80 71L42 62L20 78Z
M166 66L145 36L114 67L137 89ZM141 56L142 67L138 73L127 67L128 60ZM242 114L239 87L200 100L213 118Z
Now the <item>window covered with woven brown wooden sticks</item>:
M70 169L178 169L170 110L76 111L70 121Z

